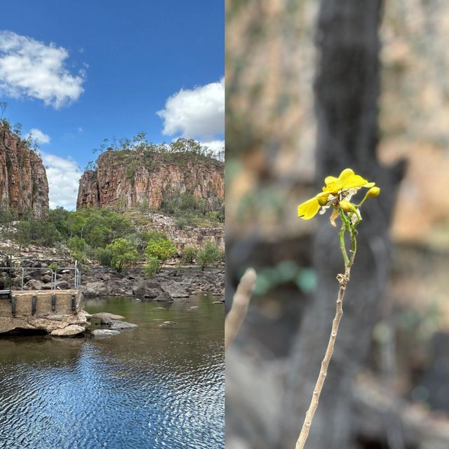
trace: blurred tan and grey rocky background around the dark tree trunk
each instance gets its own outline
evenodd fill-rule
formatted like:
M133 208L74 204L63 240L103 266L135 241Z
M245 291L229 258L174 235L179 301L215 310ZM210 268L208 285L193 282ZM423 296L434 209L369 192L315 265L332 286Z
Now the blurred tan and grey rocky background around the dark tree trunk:
M320 281L319 224L300 221L297 204L319 187L315 42L320 8L329 3L227 1L228 305L244 269L259 273L227 356L229 448L290 447L285 423L297 420L299 433L303 420L291 416L286 397L297 393L291 363ZM380 8L377 161L393 167L405 159L406 169L389 227L389 269L377 276L382 294L367 326L369 351L353 361L347 447L448 448L449 5L398 0ZM328 300L334 307L335 298ZM317 374L319 366L310 369ZM315 432L326 428L326 420L314 422Z

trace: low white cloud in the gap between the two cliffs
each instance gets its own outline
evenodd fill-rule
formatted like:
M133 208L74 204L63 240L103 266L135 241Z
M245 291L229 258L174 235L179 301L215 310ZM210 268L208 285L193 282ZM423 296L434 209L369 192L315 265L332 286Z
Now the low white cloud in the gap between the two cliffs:
M50 188L50 207L63 206L74 210L81 177L79 166L71 159L64 159L54 154L43 153L42 160Z

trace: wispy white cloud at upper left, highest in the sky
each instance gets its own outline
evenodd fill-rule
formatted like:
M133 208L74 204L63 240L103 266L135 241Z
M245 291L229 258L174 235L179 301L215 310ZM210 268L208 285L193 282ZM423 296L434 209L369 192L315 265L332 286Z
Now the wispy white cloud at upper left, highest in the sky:
M0 93L36 98L58 109L83 93L86 74L73 75L65 66L69 52L28 36L0 31Z

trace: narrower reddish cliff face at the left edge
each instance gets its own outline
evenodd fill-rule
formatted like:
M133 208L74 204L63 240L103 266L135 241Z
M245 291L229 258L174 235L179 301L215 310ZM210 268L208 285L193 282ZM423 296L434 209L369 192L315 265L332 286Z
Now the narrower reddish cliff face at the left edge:
M48 182L38 154L0 124L0 209L11 208L19 217L31 212L48 215Z

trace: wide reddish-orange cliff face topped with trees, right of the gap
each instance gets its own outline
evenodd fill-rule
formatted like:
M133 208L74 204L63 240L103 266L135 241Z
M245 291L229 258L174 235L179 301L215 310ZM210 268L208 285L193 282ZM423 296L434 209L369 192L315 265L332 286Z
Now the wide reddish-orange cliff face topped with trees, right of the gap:
M164 196L190 192L201 199L225 197L223 163L187 154L145 154L107 151L96 170L86 170L79 182L76 208L147 204L159 209Z

